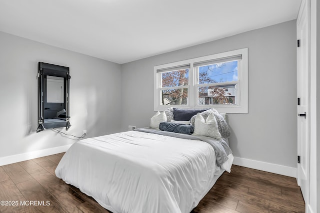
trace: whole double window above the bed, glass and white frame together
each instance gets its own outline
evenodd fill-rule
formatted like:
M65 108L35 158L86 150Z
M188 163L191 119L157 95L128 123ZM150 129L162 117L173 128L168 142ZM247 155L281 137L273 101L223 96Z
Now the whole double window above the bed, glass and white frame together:
M248 112L247 48L154 67L154 110Z

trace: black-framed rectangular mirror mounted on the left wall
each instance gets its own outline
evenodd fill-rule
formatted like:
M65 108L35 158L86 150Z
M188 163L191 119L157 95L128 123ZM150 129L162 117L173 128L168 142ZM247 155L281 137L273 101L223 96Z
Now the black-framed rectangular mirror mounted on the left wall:
M70 128L69 67L38 63L38 128Z

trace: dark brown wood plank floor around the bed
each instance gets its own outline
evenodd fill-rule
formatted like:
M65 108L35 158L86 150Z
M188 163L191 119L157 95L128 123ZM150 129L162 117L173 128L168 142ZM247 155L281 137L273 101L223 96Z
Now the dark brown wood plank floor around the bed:
M108 213L55 177L62 156L1 166L0 202L10 206L1 203L0 212ZM192 213L304 213L304 202L294 178L233 165L231 173L218 179Z

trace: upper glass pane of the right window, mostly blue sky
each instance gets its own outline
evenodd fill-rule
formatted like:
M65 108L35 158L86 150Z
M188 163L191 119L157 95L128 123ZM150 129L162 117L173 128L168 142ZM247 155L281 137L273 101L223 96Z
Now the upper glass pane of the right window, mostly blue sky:
M199 66L199 84L238 80L238 61L227 61Z

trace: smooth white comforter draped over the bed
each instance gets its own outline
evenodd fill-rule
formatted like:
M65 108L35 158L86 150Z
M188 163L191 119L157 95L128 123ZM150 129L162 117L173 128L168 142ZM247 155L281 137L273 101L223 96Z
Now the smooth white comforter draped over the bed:
M113 213L189 213L216 172L208 143L137 131L76 142L55 170Z

